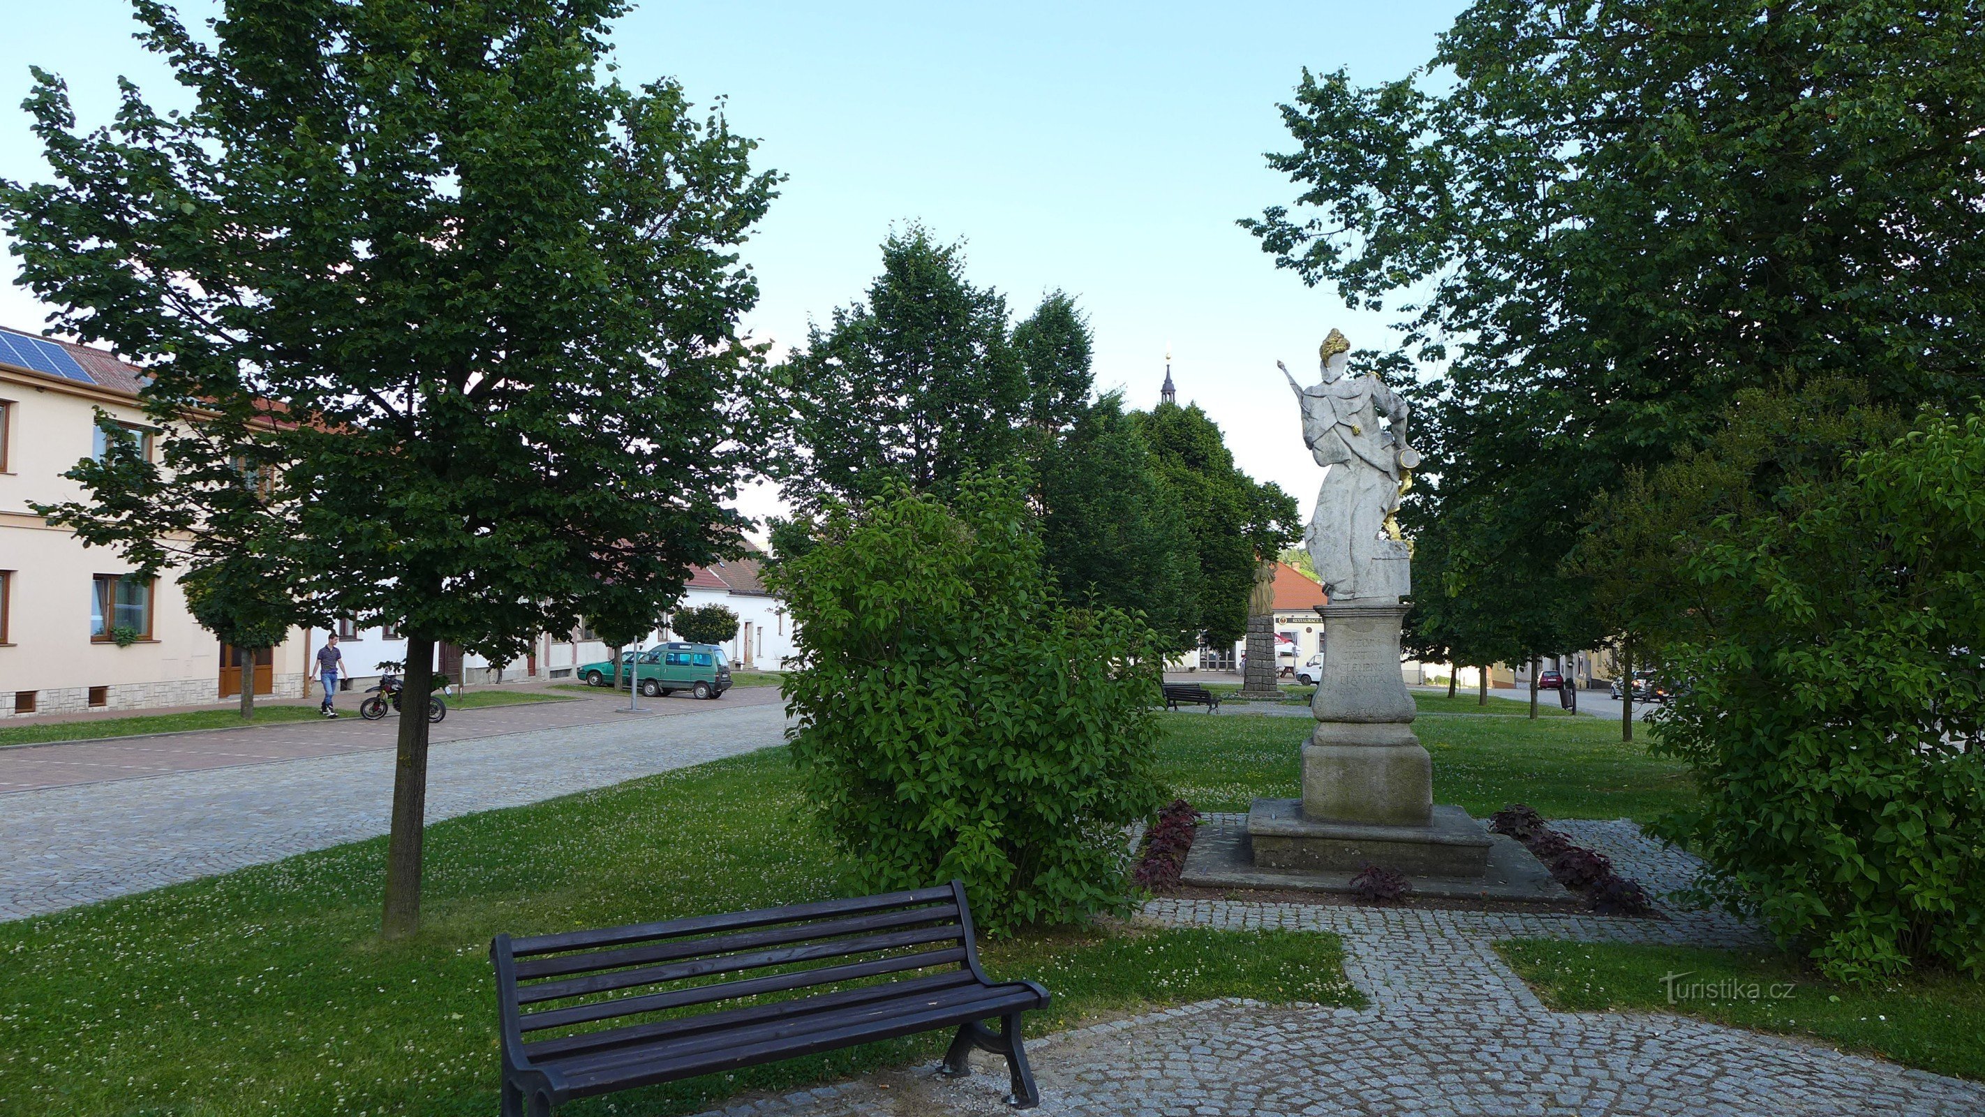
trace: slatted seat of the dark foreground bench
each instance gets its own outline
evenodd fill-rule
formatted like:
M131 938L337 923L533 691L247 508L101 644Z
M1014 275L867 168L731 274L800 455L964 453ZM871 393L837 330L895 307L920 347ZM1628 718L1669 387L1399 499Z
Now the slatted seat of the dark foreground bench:
M770 1036L770 1030L746 1030L736 1036L727 1036L730 1042L715 1050L685 1052L677 1055L671 1054L667 1046L661 1046L647 1061L629 1061L597 1071L580 1071L566 1075L566 1081L570 1083L568 1091L572 1095L629 1089L635 1085L673 1081L711 1071L748 1067L770 1059L790 1059L810 1055L814 1052L832 1052L854 1044L891 1040L895 1036L913 1036L917 1032L931 1032L933 1028L985 1020L1038 1006L1040 996L1026 986L992 986L992 990L987 990L983 1000L957 1006L923 1008L856 1022L844 1022L828 1016L818 1020L820 1028L788 1036Z

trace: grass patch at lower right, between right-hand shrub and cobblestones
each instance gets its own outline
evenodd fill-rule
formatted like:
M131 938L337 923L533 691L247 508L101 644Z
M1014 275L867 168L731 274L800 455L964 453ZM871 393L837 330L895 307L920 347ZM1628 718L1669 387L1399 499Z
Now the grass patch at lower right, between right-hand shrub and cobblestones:
M1497 950L1552 1008L1681 1012L1985 1079L1985 982L1977 978L1923 974L1860 990L1826 984L1786 954L1532 940ZM1663 982L1669 974L1685 976Z

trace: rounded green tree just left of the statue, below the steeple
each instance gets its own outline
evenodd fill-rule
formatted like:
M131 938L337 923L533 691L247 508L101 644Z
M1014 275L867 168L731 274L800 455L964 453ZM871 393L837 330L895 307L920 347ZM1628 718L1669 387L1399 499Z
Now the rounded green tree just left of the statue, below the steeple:
M1199 561L1193 625L1207 645L1231 645L1247 633L1257 556L1280 554L1302 532L1296 500L1278 484L1258 484L1235 468L1221 429L1199 405L1159 403L1137 417L1137 431L1193 538Z

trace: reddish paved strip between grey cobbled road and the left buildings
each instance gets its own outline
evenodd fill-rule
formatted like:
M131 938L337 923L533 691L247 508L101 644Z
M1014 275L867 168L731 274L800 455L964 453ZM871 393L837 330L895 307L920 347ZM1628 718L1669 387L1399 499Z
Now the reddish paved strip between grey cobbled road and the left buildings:
M605 694L605 692L601 692ZM339 694L351 698L351 694ZM514 706L484 706L449 710L449 720L433 726L433 742L472 740L508 732L544 730L623 722L627 718L657 718L695 714L713 708L776 704L778 686L736 686L715 702L689 696L641 698L639 714L615 712L627 698L574 698L570 702L518 702ZM139 738L71 740L56 744L24 744L0 748L0 794L36 788L64 788L101 780L129 780L163 772L198 772L298 760L306 756L341 756L393 748L399 716L367 722L357 714L357 702L343 702L337 720L276 722L268 726L175 732Z

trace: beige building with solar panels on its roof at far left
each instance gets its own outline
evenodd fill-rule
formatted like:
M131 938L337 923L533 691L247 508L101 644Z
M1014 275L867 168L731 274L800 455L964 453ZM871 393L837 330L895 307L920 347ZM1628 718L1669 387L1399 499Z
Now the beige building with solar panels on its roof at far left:
M173 571L137 579L115 550L30 510L83 496L62 474L101 452L97 409L151 446L139 375L101 349L0 327L0 718L234 702L244 675L258 694L302 694L302 633L244 671Z

